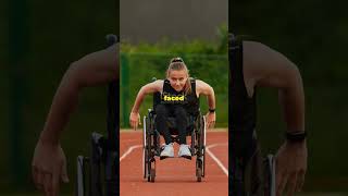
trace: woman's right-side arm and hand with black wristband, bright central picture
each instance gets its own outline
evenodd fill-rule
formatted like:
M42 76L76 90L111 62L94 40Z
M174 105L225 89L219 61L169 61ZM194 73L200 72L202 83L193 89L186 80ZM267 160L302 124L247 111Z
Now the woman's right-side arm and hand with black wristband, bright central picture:
M196 91L198 95L206 95L208 98L209 109L215 110L215 94L214 89L207 83L197 79L196 81ZM213 126L216 121L216 114L214 112L207 113L207 126Z

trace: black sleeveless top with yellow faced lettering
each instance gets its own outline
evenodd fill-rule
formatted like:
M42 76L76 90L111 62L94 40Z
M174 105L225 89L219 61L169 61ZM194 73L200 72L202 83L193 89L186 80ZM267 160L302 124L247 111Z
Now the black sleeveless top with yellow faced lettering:
M185 95L184 90L176 91L169 79L163 82L163 91L161 94L162 105L181 105L192 115L198 114L199 98L196 95L196 79L190 79L191 91Z

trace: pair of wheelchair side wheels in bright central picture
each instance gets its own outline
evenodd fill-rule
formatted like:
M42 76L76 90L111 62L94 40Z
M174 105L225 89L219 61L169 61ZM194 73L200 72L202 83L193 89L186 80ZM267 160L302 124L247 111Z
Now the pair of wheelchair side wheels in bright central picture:
M142 128L142 171L144 179L148 182L154 182L156 179L156 157L161 154L160 132L154 127L154 111L148 110L148 115L144 117ZM206 144L207 127L206 117L200 112L194 120L194 127L190 130L191 145L190 151L196 156L196 177L197 182L201 182L206 175ZM174 139L173 142L176 142ZM161 160L161 159L160 159Z

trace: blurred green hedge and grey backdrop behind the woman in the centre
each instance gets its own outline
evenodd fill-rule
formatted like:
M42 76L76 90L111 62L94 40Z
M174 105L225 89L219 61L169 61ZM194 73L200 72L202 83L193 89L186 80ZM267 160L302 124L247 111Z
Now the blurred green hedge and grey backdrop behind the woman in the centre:
M152 77L165 78L173 57L182 57L190 76L210 84L216 97L216 126L228 119L228 1L121 0L121 127L129 127L129 113L141 86ZM206 97L201 111L208 111ZM152 108L147 96L140 115Z

